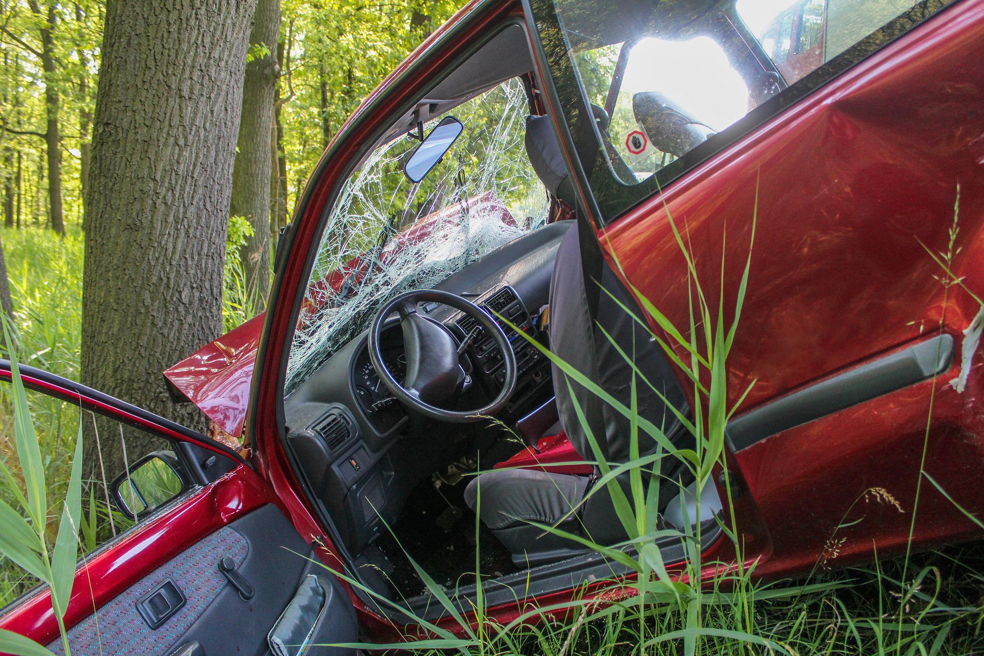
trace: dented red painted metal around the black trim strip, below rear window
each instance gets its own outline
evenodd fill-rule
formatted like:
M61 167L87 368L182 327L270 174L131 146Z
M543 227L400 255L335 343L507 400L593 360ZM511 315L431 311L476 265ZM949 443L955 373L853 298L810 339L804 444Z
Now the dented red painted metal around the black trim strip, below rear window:
M606 230L628 280L686 327L686 268L667 211L692 244L712 303L724 258L724 307L733 308L759 186L748 295L727 367L729 403L756 381L743 412L927 338L942 317L956 362L936 384L926 470L978 515L980 348L966 391L947 385L978 305L941 284L926 249L947 250L959 183L953 272L984 293L982 51L984 2L957 3ZM915 547L979 535L925 479L914 508L932 388L898 390L730 456L761 513L739 522L769 527L760 574L871 558L873 547L896 553L914 510ZM845 518L861 521L838 530Z

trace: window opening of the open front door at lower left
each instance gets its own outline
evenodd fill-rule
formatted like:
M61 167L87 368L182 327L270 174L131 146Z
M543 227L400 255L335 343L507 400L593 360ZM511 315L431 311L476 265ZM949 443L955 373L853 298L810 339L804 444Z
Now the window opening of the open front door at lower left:
M20 484L23 480L17 466L11 392L9 384L0 383L0 458ZM47 514L51 523L47 532L53 540L72 466L80 410L73 403L39 391L28 389L27 395L48 481ZM81 556L86 558L137 523L147 521L187 486L167 464L177 459L176 448L169 440L124 427L106 417L96 418L88 411L82 413L81 419L86 444L96 446L99 454L97 466L83 474L79 545ZM151 453L154 457L147 457ZM131 478L121 486L120 496L132 512L124 512L113 500L112 483L126 470ZM0 483L0 500L10 507L20 507L9 483ZM29 572L0 556L0 607L13 603L37 584L38 580Z

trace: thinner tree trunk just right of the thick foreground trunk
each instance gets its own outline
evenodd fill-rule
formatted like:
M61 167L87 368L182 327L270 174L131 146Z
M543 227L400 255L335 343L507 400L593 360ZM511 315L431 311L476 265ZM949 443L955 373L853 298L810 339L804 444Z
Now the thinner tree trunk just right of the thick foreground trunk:
M253 236L239 251L247 289L256 299L256 311L266 305L270 290L270 178L271 126L277 90L277 38L280 0L259 0L250 32L250 45L265 45L268 53L246 64L242 120L235 169L232 173L233 216L245 216Z

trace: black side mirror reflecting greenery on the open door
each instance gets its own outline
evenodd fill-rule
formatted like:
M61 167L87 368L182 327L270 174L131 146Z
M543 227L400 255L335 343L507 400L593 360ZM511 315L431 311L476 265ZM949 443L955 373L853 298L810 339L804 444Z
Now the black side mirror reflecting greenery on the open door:
M163 506L184 490L180 463L171 451L154 451L137 460L109 486L116 507L135 520Z

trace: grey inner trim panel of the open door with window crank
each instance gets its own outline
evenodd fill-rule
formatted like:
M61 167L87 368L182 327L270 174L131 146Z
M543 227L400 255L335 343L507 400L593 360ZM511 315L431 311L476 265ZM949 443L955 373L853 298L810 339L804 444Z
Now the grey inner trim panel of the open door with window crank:
M219 571L222 558L231 558L235 570L254 588L252 599L244 601ZM317 576L326 592L322 622L312 641L353 641L357 635L352 605L337 579L309 560L313 558L311 548L277 507L261 507L195 542L73 626L72 653L167 654L198 642L209 655L264 654L267 634L308 574ZM151 628L137 604L165 581L180 590L185 603L161 626ZM63 653L60 639L48 648Z

